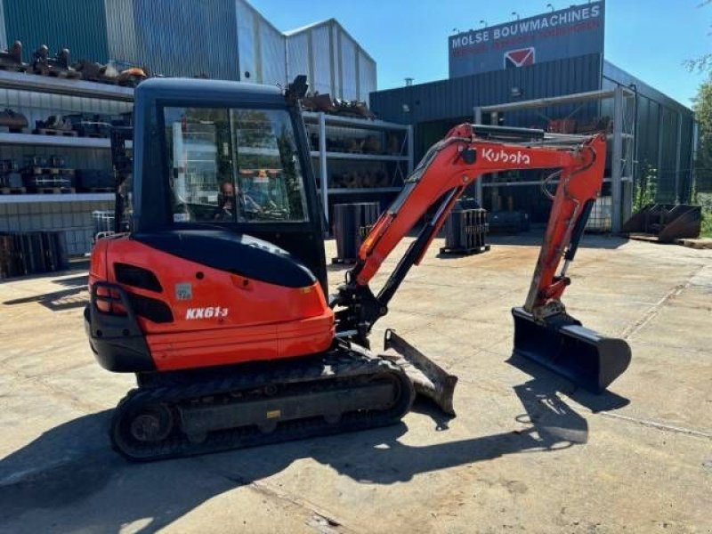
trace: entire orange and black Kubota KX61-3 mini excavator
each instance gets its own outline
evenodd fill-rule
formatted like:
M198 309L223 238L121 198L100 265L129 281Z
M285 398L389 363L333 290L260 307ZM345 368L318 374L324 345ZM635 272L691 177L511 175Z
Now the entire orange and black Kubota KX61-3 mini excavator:
M133 183L117 202L128 227L96 242L85 310L101 366L137 377L111 422L119 453L154 460L391 425L416 391L454 414L455 376L395 332L390 356L372 352L368 336L457 198L487 173L560 169L530 292L513 310L514 352L595 392L627 368L624 341L581 327L561 303L601 190L603 136L564 143L540 130L453 128L327 299L305 92L304 77L284 91L178 78L136 89ZM375 295L370 280L429 209Z

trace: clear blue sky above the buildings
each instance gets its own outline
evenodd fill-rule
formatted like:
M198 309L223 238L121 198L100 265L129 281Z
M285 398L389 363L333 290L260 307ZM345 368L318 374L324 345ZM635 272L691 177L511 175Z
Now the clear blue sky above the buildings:
M548 11L542 0L249 0L285 31L336 18L376 60L378 89L448 77L453 28L480 28ZM712 4L702 0L607 0L605 58L683 103L707 75L683 62L712 52ZM553 0L555 9L579 1Z

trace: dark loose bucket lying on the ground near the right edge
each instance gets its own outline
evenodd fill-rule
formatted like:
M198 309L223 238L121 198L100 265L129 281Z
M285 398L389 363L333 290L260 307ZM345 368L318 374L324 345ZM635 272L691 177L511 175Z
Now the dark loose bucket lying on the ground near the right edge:
M623 224L631 238L672 243L676 239L697 238L702 224L702 208L692 204L649 204Z

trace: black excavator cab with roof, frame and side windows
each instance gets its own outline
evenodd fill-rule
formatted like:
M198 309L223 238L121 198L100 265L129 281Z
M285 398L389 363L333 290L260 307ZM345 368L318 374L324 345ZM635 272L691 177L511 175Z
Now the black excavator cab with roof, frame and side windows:
M134 234L247 234L293 255L326 292L323 217L294 93L299 82L291 94L212 80L142 83L134 109Z

